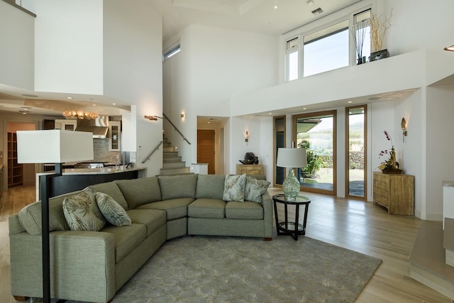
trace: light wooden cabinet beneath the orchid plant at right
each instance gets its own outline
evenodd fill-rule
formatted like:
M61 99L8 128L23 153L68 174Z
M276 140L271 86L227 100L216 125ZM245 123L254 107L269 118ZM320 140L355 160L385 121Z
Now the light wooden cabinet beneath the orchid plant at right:
M388 214L414 215L414 176L374 172L374 203Z

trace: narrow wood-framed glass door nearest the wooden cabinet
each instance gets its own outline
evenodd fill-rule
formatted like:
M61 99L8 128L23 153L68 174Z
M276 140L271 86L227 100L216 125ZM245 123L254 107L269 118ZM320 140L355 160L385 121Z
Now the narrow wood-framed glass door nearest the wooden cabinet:
M365 105L346 108L345 182L347 197L365 199L366 195L366 131L367 107Z

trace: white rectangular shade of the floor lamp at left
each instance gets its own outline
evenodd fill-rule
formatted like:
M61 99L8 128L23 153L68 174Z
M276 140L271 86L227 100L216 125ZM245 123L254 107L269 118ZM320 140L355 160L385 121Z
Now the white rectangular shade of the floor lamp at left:
M84 131L17 131L18 163L93 160L93 136Z

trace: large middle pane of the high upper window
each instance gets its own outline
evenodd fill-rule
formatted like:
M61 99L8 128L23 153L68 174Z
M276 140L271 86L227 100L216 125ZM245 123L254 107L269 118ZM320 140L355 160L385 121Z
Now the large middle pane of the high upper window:
M304 77L348 66L348 20L304 36Z

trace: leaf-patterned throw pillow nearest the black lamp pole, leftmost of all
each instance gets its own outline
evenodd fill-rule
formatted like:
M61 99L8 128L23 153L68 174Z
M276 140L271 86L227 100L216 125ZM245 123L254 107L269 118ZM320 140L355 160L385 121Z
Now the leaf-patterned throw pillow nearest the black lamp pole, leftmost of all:
M79 194L66 197L62 206L63 214L72 231L100 231L106 225L94 193L88 188Z

